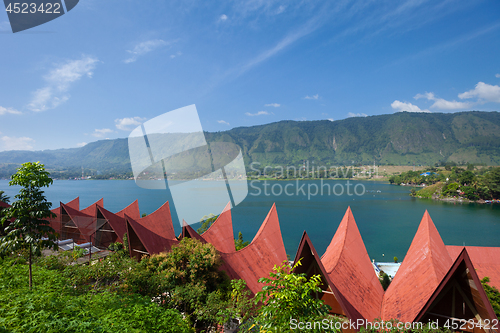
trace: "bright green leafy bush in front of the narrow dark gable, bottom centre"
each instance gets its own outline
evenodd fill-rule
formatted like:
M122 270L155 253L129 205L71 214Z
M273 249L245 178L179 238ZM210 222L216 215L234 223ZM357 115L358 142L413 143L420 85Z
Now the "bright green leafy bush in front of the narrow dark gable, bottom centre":
M275 266L270 278L261 278L265 286L256 296L256 302L262 303L255 318L256 326L261 331L290 331L290 321L321 321L327 318L330 307L315 297L321 292L321 277L313 275L307 279L305 274L293 273L300 265L300 260L291 268L288 262ZM330 318L331 319L331 318ZM311 332L323 330L311 330Z

